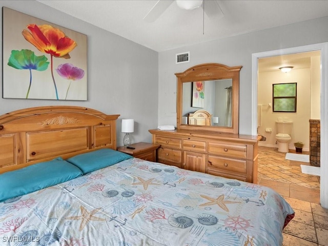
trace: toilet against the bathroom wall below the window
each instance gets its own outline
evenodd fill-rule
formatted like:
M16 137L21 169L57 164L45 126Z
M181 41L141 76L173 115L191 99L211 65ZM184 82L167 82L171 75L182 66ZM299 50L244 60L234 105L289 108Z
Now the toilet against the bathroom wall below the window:
M291 133L293 127L293 121L290 119L279 118L276 121L277 124L277 134L276 140L278 143L278 151L287 153L289 151L289 142L291 141Z

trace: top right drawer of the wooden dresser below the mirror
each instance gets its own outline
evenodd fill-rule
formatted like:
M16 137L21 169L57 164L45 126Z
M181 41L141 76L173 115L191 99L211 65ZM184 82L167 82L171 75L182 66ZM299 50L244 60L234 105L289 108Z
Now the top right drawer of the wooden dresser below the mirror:
M247 158L247 145L232 145L225 142L209 142L208 152L237 158Z

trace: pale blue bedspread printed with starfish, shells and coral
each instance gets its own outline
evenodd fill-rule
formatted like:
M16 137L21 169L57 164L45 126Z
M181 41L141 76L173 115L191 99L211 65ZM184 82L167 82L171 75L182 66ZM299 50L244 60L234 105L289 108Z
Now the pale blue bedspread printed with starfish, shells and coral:
M0 203L0 245L281 245L270 188L132 158Z

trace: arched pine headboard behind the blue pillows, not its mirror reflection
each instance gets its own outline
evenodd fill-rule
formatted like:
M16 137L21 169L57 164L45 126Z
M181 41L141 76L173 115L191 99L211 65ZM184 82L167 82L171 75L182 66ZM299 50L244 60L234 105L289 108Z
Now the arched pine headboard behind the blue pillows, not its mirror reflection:
M61 156L116 150L116 115L75 106L35 107L0 116L0 173Z

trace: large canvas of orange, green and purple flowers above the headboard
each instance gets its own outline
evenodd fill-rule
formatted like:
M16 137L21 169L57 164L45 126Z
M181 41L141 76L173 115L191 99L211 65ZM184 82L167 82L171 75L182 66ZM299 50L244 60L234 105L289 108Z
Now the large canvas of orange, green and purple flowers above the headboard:
M87 100L87 35L3 7L3 98Z

